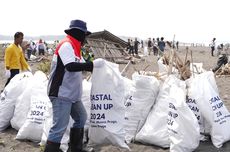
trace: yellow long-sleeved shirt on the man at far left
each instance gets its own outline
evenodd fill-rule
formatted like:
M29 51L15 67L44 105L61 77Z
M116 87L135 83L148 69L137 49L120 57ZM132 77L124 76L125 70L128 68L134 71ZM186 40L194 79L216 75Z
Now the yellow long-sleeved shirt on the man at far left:
M14 43L9 45L5 51L5 67L9 70L19 69L27 70L29 65L27 64L25 57L23 55L22 48L15 45Z

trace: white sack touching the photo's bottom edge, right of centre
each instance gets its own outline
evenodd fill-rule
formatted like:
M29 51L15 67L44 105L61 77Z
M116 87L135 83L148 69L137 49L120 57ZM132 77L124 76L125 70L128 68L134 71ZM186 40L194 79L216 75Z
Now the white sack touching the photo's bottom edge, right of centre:
M186 104L186 85L169 76L168 132L170 152L192 152L199 146L200 128L194 113Z

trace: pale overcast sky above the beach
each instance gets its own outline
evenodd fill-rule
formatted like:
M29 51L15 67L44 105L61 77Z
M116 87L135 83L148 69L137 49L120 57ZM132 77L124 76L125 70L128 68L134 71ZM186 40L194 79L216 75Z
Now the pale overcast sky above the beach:
M1 0L0 34L63 35L70 20L91 32L179 41L230 41L229 0Z

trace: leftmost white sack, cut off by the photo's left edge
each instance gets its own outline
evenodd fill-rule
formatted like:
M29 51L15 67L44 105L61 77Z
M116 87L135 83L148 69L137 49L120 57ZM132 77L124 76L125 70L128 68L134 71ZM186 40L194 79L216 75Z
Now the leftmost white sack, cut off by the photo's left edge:
M14 115L16 99L23 93L32 76L31 72L17 74L1 93L0 131L5 130L10 125L10 120Z

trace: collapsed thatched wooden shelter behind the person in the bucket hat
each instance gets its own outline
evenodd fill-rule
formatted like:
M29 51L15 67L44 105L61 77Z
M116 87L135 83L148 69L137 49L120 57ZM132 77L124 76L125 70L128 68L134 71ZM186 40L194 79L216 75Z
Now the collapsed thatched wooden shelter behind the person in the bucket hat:
M127 42L109 31L95 32L87 36L86 43L95 58L104 58L115 63L126 63Z

